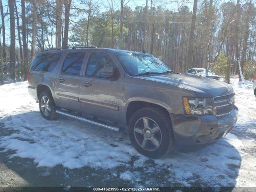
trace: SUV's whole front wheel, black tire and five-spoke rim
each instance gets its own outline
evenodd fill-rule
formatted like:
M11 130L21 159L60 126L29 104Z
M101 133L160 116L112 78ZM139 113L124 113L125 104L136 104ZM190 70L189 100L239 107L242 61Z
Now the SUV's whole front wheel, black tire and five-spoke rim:
M129 137L140 154L160 158L174 144L170 117L159 108L142 108L130 118Z

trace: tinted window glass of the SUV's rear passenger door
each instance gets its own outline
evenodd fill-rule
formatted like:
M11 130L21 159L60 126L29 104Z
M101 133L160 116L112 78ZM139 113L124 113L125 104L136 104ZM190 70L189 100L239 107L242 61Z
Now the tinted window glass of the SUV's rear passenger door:
M85 52L71 52L69 53L62 66L64 73L80 74Z

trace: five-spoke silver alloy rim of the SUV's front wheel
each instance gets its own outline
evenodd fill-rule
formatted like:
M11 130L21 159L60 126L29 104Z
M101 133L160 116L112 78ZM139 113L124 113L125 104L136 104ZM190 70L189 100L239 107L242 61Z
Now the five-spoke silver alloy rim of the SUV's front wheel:
M134 126L136 142L147 151L157 150L162 143L162 132L158 124L148 117L140 118Z

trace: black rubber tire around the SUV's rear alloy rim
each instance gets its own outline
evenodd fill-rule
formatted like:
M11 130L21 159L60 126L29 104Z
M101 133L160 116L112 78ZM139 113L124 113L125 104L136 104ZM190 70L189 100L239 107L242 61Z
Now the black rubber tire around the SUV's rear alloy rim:
M43 97L46 96L49 99L49 107L50 107L50 112L48 114L45 114L45 112L43 112L43 110L45 108L43 108L41 106L41 102L43 102ZM56 105L55 102L52 98L52 94L49 91L43 91L40 96L39 96L39 109L40 109L40 113L43 116L43 118L47 119L47 120L56 120L59 118L60 114L56 113Z

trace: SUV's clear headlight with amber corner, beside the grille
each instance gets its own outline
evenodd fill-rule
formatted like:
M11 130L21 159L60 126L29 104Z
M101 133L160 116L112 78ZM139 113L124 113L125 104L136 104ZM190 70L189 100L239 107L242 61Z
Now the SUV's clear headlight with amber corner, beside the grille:
M212 102L210 98L183 97L184 112L188 115L211 115Z

